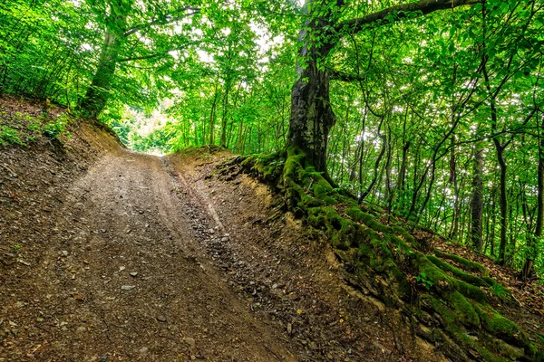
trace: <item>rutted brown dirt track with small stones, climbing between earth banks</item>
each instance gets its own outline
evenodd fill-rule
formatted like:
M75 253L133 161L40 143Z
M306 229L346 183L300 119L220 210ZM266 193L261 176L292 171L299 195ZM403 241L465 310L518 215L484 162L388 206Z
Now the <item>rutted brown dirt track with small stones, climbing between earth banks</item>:
M36 304L9 317L38 321L18 332L28 360L295 360L196 243L207 216L183 204L176 178L123 150L67 192L33 272Z

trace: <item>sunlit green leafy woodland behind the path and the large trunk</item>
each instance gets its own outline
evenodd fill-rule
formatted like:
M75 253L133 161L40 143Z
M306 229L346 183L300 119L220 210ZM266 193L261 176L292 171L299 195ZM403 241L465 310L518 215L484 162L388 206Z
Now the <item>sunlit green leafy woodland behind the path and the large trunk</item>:
M397 3L354 1L339 16ZM333 79L327 167L338 185L525 278L544 272L543 5L393 13L343 34L319 64ZM44 114L51 101L97 117L139 151L274 152L287 141L306 14L288 0L8 0L0 91L44 100ZM55 137L70 121L36 127ZM3 123L0 143L32 141L17 119Z

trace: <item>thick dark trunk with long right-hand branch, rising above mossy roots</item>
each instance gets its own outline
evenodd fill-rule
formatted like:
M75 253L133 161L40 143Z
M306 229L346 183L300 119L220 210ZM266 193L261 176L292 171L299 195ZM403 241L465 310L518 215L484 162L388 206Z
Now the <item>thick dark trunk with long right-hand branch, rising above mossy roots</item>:
M335 125L329 87L334 72L325 69L327 57L347 34L437 10L475 4L475 0L420 0L394 5L375 13L342 20L344 0L306 0L306 21L299 34L298 79L291 91L291 118L287 145L300 148L317 171L326 171L326 148Z

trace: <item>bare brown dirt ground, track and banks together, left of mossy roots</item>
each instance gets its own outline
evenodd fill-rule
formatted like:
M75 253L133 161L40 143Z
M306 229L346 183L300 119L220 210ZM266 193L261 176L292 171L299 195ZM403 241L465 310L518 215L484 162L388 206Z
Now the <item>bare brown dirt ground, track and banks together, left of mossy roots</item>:
M410 360L266 186L210 177L228 153L83 125L0 154L0 361Z

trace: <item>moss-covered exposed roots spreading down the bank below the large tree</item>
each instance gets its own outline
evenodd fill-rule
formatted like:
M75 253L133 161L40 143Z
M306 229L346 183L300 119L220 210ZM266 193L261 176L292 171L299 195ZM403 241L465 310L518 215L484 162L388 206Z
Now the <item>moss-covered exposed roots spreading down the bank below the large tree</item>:
M529 338L491 308L491 300L515 300L482 265L454 254L423 252L400 224L381 224L377 215L331 186L299 149L229 162L273 186L283 195L284 209L323 231L351 271L352 283L402 310L415 334L452 360L544 361L538 338Z

